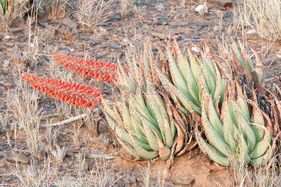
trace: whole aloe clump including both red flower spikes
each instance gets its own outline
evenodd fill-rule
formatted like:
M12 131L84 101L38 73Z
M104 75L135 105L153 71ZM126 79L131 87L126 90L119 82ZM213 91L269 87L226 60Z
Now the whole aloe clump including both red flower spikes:
M245 81L261 91L260 60L254 52L256 64L252 63L243 48L239 53L235 45L218 46L219 56L206 44L204 52L197 49L199 56L189 49L184 56L175 41L167 41L165 54L158 50L154 57L151 45L144 43L143 52L126 54L123 64L53 55L57 63L70 71L110 82L112 106L102 98L105 95L100 95L98 88L27 73L23 73L22 79L43 93L76 106L93 109L96 103L102 103L117 140L136 158L159 156L166 160L182 154L188 148L190 130L185 117L191 112L202 123L210 144L196 127L197 142L211 159L228 165L229 160L239 157L246 163L259 165L270 154L270 132L264 127L257 102L248 100L253 106L250 117L241 87L234 80L240 75L247 79L249 75ZM166 86L169 94L163 93L161 86Z

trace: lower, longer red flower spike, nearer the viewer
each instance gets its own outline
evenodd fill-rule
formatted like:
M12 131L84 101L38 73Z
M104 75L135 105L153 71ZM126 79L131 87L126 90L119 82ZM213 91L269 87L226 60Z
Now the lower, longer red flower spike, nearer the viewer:
M100 89L96 87L91 88L84 84L37 77L26 72L22 72L21 78L37 90L75 106L91 107L90 110L92 110L96 103L100 101ZM104 96L105 94L101 95L101 97Z

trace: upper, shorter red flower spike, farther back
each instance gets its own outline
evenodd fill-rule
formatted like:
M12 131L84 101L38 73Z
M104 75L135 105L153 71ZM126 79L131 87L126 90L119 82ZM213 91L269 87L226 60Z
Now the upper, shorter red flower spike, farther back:
M117 67L114 63L91 59L85 60L84 58L76 58L59 53L53 53L53 60L56 60L56 63L62 64L61 66L70 71L86 77L91 76L101 82L110 81L110 84L113 84L114 72Z

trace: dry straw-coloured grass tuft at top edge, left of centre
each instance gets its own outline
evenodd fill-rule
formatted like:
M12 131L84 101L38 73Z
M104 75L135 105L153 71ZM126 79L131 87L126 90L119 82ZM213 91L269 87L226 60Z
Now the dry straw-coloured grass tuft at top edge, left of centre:
M78 0L75 16L87 27L96 27L107 21L111 12L106 13L113 0Z

